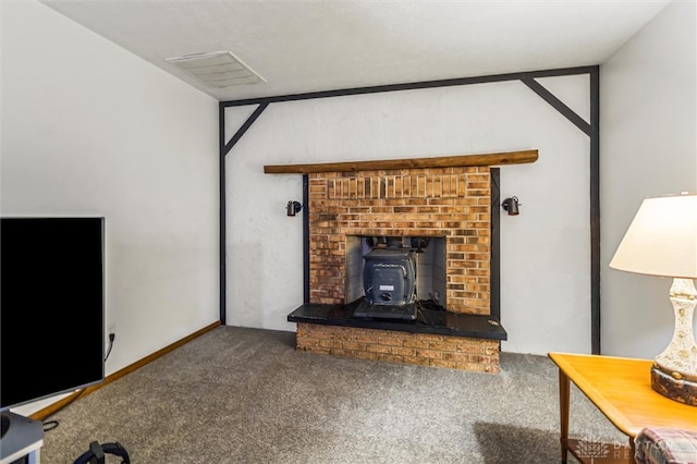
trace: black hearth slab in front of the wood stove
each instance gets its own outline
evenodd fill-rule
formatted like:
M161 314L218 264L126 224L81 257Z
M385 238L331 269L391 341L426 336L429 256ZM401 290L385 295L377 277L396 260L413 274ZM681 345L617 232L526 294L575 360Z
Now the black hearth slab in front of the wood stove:
M419 309L418 318L414 321L354 317L353 313L357 304L358 302L347 305L305 304L289 314L288 320L289 322L317 323L321 326L508 340L508 333L503 326L489 316Z

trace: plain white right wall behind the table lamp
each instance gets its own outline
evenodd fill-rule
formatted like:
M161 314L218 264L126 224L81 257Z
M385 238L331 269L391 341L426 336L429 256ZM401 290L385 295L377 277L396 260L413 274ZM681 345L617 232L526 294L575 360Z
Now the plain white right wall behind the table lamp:
M670 279L608 264L644 197L697 192L694 1L675 1L601 66L601 347L653 358L673 333Z

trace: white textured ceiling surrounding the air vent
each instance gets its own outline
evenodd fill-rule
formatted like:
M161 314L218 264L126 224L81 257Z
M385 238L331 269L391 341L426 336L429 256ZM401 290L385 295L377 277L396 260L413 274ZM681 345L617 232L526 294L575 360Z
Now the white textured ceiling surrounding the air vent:
M602 63L668 0L42 0L219 100ZM229 50L267 82L164 59Z

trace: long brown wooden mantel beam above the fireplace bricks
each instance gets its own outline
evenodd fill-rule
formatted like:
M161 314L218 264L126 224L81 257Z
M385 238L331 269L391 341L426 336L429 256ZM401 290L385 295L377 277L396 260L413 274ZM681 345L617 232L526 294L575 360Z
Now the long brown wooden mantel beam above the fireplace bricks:
M384 159L377 161L343 161L311 164L267 164L265 174L310 174L319 172L377 171L382 169L458 168L464 166L521 164L537 161L537 150L485 155L458 155L436 158Z

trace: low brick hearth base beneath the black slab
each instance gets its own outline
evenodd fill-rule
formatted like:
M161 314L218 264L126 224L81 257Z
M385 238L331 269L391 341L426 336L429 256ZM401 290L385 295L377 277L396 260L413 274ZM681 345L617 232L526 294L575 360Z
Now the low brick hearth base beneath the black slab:
M296 343L311 353L499 373L499 340L298 323Z

